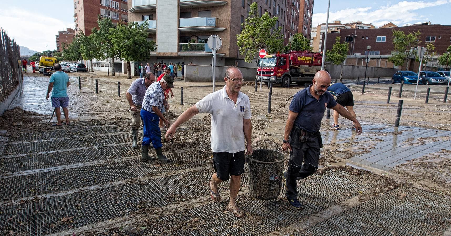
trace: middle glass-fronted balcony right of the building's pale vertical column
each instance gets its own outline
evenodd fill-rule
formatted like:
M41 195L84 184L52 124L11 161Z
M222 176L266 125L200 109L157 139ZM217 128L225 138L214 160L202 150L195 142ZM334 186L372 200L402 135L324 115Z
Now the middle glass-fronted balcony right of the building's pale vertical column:
M179 19L180 32L211 32L225 31L226 28L218 26L218 18L216 17L192 17Z

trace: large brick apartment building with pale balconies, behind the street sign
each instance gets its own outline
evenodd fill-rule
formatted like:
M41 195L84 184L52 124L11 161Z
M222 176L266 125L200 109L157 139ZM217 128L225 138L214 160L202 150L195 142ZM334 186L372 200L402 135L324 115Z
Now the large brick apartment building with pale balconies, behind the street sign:
M236 45L241 23L248 17L250 5L258 4L258 14L277 16L276 27L282 27L285 44L299 30L300 1L304 0L129 0L129 21L148 20L149 40L156 41L157 50L143 63L172 62L209 65L212 50L208 37L221 37L216 52L217 65L235 65L242 59ZM312 2L313 4L313 2ZM139 64L136 62L135 64Z

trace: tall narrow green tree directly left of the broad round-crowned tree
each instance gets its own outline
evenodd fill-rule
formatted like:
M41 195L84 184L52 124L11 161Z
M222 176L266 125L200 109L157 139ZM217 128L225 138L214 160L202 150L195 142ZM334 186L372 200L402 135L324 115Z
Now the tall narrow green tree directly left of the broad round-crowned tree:
M111 59L111 76L115 76L114 73L114 59L120 58L120 51L113 46L110 40L110 35L115 32L115 26L110 18L97 15L97 25L99 29L93 28L92 34L96 37L96 40L100 42L101 52L104 56L97 59L105 59L106 57Z

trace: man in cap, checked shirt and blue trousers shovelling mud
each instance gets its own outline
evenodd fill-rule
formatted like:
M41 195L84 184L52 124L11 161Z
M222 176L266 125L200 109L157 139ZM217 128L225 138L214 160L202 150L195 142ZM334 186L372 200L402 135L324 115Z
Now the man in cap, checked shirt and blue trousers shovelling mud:
M168 162L161 150L161 131L158 127L158 120L162 119L166 126L170 122L163 116L164 110L169 110L169 103L165 99L163 91L174 87L174 79L165 75L160 81L153 83L147 88L143 99L143 109L141 109L141 119L143 120L143 145L141 150L141 161L154 160L155 157L149 157L149 145L152 143L155 149L157 159L162 162Z

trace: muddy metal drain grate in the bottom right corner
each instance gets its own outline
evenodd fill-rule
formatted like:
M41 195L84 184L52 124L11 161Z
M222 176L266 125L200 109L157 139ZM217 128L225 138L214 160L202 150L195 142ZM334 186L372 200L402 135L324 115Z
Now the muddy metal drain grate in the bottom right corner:
M406 197L399 199L400 193ZM357 205L300 235L442 235L451 226L451 200L412 187Z

